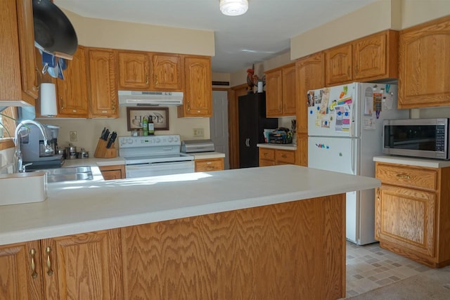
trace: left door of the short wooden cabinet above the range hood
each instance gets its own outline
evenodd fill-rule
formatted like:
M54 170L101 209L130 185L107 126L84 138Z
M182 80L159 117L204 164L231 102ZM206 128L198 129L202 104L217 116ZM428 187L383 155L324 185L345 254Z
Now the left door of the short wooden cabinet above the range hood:
M119 89L150 89L150 57L137 51L117 51Z

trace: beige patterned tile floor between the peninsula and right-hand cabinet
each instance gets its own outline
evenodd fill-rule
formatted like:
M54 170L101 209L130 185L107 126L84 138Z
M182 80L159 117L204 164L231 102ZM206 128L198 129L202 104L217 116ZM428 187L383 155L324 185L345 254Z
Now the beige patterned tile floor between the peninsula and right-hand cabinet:
M347 242L346 296L356 296L430 269L381 249L378 243L356 246Z

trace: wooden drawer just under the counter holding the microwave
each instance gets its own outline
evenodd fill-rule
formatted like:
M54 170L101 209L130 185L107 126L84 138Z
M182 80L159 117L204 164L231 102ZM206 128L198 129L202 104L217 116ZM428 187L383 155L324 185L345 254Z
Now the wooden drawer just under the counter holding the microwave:
M377 164L375 172L383 183L427 190L437 188L437 170Z

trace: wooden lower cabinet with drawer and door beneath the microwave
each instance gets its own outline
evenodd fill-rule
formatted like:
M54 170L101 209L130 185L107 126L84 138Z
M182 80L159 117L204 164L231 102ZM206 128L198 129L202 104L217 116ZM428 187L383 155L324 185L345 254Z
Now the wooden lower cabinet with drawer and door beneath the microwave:
M380 247L433 268L450 265L450 167L375 164Z

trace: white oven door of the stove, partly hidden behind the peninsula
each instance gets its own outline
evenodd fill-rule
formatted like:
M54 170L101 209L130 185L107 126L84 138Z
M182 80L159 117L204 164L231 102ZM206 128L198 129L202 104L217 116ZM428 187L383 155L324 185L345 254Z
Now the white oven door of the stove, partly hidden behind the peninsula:
M160 162L155 164L127 164L126 178L162 176L194 172L193 160L184 162Z

